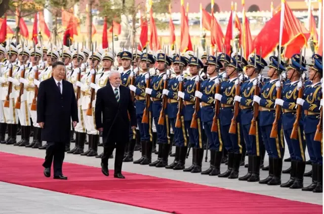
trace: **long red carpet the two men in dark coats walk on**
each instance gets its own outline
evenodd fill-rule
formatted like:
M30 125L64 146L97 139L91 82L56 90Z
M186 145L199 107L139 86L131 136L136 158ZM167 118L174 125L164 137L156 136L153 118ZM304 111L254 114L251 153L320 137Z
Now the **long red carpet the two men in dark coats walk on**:
M58 181L45 178L42 163L0 152L0 181L170 213L322 213L321 205L133 173L114 179L113 172L105 177L99 168L69 163L63 166L68 180Z

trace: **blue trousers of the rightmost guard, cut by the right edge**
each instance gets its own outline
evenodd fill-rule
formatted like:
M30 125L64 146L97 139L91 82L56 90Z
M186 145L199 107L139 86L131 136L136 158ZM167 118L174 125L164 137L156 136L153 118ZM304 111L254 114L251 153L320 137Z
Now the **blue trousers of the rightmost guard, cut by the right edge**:
M323 164L322 142L314 140L315 132L305 134L307 150L312 164Z

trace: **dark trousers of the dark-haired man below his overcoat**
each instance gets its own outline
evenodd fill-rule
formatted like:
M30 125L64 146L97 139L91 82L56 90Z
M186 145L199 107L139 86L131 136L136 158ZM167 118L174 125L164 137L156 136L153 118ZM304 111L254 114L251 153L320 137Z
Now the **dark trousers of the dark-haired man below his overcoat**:
M64 142L47 142L46 156L43 167L51 168L52 162L54 168L54 176L62 175L62 165L65 156Z

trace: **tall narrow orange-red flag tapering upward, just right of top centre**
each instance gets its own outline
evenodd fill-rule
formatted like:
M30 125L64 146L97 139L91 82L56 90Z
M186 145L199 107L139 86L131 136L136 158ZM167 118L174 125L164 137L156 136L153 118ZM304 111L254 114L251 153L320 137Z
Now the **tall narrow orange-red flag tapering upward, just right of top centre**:
M186 16L186 11L183 4L181 5L181 35L180 35L180 50L185 52L192 50L191 38L189 35L189 24Z

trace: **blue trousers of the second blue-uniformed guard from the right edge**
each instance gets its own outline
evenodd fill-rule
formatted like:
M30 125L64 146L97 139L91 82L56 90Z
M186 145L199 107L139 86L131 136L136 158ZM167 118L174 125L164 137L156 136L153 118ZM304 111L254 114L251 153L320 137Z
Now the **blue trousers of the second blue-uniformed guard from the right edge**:
M303 128L299 127L298 140L290 138L292 131L292 128L284 130L284 135L287 141L290 156L293 160L305 161L306 142L302 136Z

